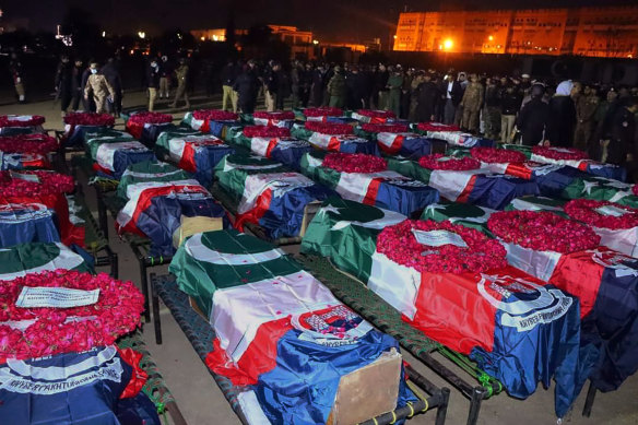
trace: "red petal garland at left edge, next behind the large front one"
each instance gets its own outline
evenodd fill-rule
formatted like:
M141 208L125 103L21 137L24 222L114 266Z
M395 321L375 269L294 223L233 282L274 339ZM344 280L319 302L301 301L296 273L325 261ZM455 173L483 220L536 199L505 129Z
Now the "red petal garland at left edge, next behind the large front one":
M20 178L36 176L38 181ZM39 197L69 193L75 188L73 177L47 170L0 172L0 197Z

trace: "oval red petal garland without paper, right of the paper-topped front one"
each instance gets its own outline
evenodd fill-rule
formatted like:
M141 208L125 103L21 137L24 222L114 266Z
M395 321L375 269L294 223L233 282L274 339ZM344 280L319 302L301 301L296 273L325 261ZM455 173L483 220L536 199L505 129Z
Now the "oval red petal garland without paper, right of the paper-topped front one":
M584 224L547 211L495 212L487 220L487 227L506 243L537 251L583 251L598 247L601 240Z

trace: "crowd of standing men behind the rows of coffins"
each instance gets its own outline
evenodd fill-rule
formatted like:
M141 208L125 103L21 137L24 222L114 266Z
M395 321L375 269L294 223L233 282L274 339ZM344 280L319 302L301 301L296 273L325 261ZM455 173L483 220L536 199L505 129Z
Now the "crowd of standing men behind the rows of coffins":
M603 86L565 80L558 84L528 74L486 75L416 70L400 64L357 66L293 61L288 69L271 60L228 61L217 75L222 108L251 114L263 96L269 111L308 106L386 109L412 122L439 121L500 143L547 143L588 151L613 164L638 158L636 113L638 87ZM166 56L145 67L149 110L157 98L170 107L184 99L190 108L188 60ZM16 82L17 84L17 82ZM63 56L56 73L61 110L95 110L119 115L122 84L114 59L103 67ZM23 88L21 87L23 91ZM16 85L17 91L17 85Z

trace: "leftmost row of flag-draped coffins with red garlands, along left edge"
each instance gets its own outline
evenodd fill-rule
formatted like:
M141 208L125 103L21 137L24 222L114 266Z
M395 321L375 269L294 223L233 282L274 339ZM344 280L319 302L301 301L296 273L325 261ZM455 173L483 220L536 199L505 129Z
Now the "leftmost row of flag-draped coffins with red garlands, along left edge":
M17 135L23 154L50 140ZM2 139L9 150L10 137ZM20 139L20 140L19 140ZM42 143L42 145L37 145ZM72 177L25 164L2 172L0 399L14 424L160 424L141 392L141 354L116 340L140 322L130 282L94 274ZM61 241L60 241L61 240ZM73 249L69 248L73 247Z

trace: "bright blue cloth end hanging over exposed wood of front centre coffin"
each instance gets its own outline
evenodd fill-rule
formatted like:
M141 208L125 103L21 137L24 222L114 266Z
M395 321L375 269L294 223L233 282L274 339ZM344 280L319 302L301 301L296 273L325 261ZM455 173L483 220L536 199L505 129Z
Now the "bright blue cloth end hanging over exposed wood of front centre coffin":
M399 350L393 338L378 331L368 332L357 344L339 347L304 341L299 334L292 330L280 339L276 366L259 377L255 389L273 424L327 423L341 377L373 363L383 352ZM401 379L397 405L416 400Z

